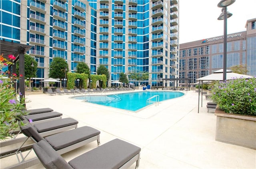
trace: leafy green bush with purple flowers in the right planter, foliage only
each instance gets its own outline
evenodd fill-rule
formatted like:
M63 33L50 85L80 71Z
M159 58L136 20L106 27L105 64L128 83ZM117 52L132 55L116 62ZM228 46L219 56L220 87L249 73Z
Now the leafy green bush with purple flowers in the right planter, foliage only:
M212 86L212 100L226 113L256 116L256 78L237 78Z

